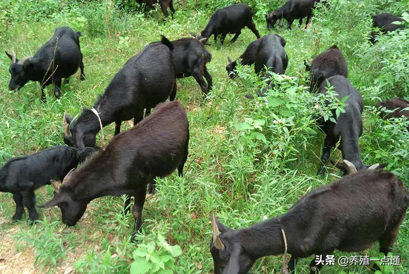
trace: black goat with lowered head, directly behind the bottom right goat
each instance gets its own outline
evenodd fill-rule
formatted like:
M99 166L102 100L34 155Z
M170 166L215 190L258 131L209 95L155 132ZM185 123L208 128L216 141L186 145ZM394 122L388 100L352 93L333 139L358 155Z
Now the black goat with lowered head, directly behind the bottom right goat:
M347 78L342 75L335 75L327 80L334 87L334 92L338 94L339 100L349 96L344 107L345 113L340 113L338 118L335 116L335 111L332 115L336 119L336 123L328 121L320 121L319 126L326 134L321 157L322 167L318 173L325 174L325 165L327 164L331 148L335 147L340 139L340 150L344 159L351 162L357 170L365 170L367 167L363 164L360 148L359 137L362 134L362 109L363 100L359 92L351 85ZM319 93L327 93L327 81L320 86ZM337 166L342 168L341 165ZM345 168L342 168L344 173L347 173Z

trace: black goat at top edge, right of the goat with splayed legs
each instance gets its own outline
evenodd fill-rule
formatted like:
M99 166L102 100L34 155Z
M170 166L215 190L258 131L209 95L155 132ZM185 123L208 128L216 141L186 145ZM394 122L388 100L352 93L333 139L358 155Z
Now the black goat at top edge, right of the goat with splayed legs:
M307 16L305 28L311 18L312 9L314 8L315 0L288 0L284 6L266 15L267 30L270 30L280 19L280 26L282 26L281 19L288 21L288 29L291 29L292 22L295 19L300 19L300 26L303 24L303 18Z

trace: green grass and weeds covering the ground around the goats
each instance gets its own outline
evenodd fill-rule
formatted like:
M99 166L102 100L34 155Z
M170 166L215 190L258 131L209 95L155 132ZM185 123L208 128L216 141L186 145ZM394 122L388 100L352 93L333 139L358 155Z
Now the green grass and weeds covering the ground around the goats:
M48 2L44 0L46 5ZM56 10L64 9L64 12L50 11L47 16L38 15L39 11L34 14L37 6L33 4L31 11L35 16L30 13L26 18L22 8L24 6L8 0L8 13L0 13L0 28L3 31L0 33L0 49L18 50L19 57L32 55L52 36L56 27L64 24L72 26L84 35L80 38L80 43L86 80L80 82L78 72L71 78L69 85L62 87L59 100L55 100L50 87L46 88L48 100L47 103L42 103L38 83L30 82L17 93L7 90L10 60L5 54L1 54L0 164L13 156L62 144L63 111L75 116L82 107L92 106L125 61L140 52L149 42L160 39L161 34L173 40L189 37L190 31L199 32L206 25L212 10L192 11L190 8L197 3L185 2L184 6L177 2L173 20L163 20L158 11L152 11L146 17L140 13L122 14L110 7L109 1L100 5L94 2L70 2L71 5L67 6L53 6ZM349 79L361 91L367 106L363 114L364 132L360 139L362 158L367 164L389 163L388 168L398 174L405 186L409 187L409 175L405 172L409 161L409 142L406 142L409 141L409 136L404 130L404 123L394 125L380 121L376 111L371 108L376 103L372 100L373 93L370 93L371 96L368 94L379 76L380 64L375 63L375 60L382 60L384 55L381 51L382 44L377 45L378 48L369 48L365 35L370 31L370 22L365 18L378 11L375 8L379 7L376 6L376 1L368 1L367 4L351 2L356 10L336 6L326 15L317 15L312 27L307 30L298 28L298 24L294 24L291 31L279 28L273 30L287 41L285 49L290 63L286 74L297 77L294 80L297 82L297 98L308 98L309 95L302 88L307 76L303 60L311 60L316 54L337 43L346 55ZM2 5L5 4L0 4L0 7ZM366 13L354 17L365 9L368 9ZM95 11L95 14L90 15L93 14L91 11ZM112 14L112 17L102 16L105 11ZM261 35L265 35L268 32L264 18L261 12L257 14L257 28ZM349 20L335 20L334 16L337 14L350 16L347 17ZM120 36L129 37L126 44L120 45ZM145 203L144 232L140 241L145 241L145 238L148 241L160 231L170 244L180 245L183 254L176 261L177 273L213 271L209 252L209 217L212 212L229 227L245 227L263 220L265 215L272 217L285 213L306 192L339 177L339 173L332 169L329 170L331 174L325 178L315 175L320 162L323 134L313 125L313 120L307 121L307 116L304 117L310 113L310 104L301 105L303 101L294 103L299 104L302 111L299 111L300 114L294 111L294 116L298 119L296 126L288 126L287 129L290 133L298 130L298 133L292 140L287 140L281 138L284 133L275 133L274 128L268 127L271 125L268 124L269 118L265 113L270 113L270 110L260 109L257 100L249 101L244 98L249 91L255 90L254 81L248 77L232 81L227 77L226 57L237 58L248 43L256 38L248 29L233 44L230 42L232 37L226 39L223 47L218 43L214 44L212 38L212 45L207 47L213 55L208 70L213 76L214 87L205 103L201 103L201 90L192 77L177 81L176 98L188 110L191 129L185 176L179 178L175 173L167 178L157 179L157 192L154 196L149 196ZM406 40L405 43L407 42ZM278 110L271 111L280 113ZM261 132L269 141L280 140L285 146L280 148L279 144L269 144L268 147L260 140L249 140L248 132L237 128L248 117L266 117L267 125ZM298 129L303 121L311 128L306 126ZM130 122L124 123L122 130L129 129L130 126ZM284 127L276 129L284 130ZM113 131L113 125L104 128L105 140L112 137ZM305 144L302 143L304 141ZM340 153L334 151L332 158L339 157ZM37 204L43 203L52 197L52 187L44 187L36 195ZM129 243L133 217L131 214L124 217L121 214L122 208L123 199L119 197L96 199L88 205L85 217L74 227L62 224L58 209L38 209L40 221L31 226L27 223L26 214L26 219L22 221L0 224L0 237L13 231L14 243L9 248L15 250L15 253L30 250L32 262L40 272L53 272L64 263L69 263L74 265L77 272L126 273L133 260L132 251L135 247ZM11 220L14 209L12 195L0 193L0 220ZM401 256L402 266L395 268L398 273L409 271L408 242L409 221L405 220L393 248L393 254ZM376 245L354 255L377 256L377 250ZM335 252L336 258L342 255L350 254ZM280 260L281 257L262 258L253 266L252 273L278 272ZM297 272L305 273L310 260L311 258L300 260ZM371 272L369 268L362 266L327 266L322 272L339 273L343 270L353 273Z

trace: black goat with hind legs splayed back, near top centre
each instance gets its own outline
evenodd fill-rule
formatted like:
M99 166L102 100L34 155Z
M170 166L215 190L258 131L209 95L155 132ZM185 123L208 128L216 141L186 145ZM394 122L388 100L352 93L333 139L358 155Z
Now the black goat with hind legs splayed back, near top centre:
M254 11L245 4L234 4L228 7L224 7L213 12L208 25L200 35L196 37L198 40L204 39L207 41L210 36L214 35L214 40L217 40L217 36L221 34L220 43L224 44L224 39L229 33L234 33L235 36L232 42L235 42L241 30L245 27L249 28L257 38L260 38L260 34L256 29L256 24L253 21Z

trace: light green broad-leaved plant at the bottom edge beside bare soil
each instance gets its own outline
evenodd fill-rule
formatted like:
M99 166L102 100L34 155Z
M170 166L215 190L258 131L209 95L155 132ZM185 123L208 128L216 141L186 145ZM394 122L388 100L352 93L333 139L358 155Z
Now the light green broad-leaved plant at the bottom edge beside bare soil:
M182 254L179 245L170 245L161 234L157 234L156 241L139 244L133 252L131 274L144 273L173 273L175 258Z

